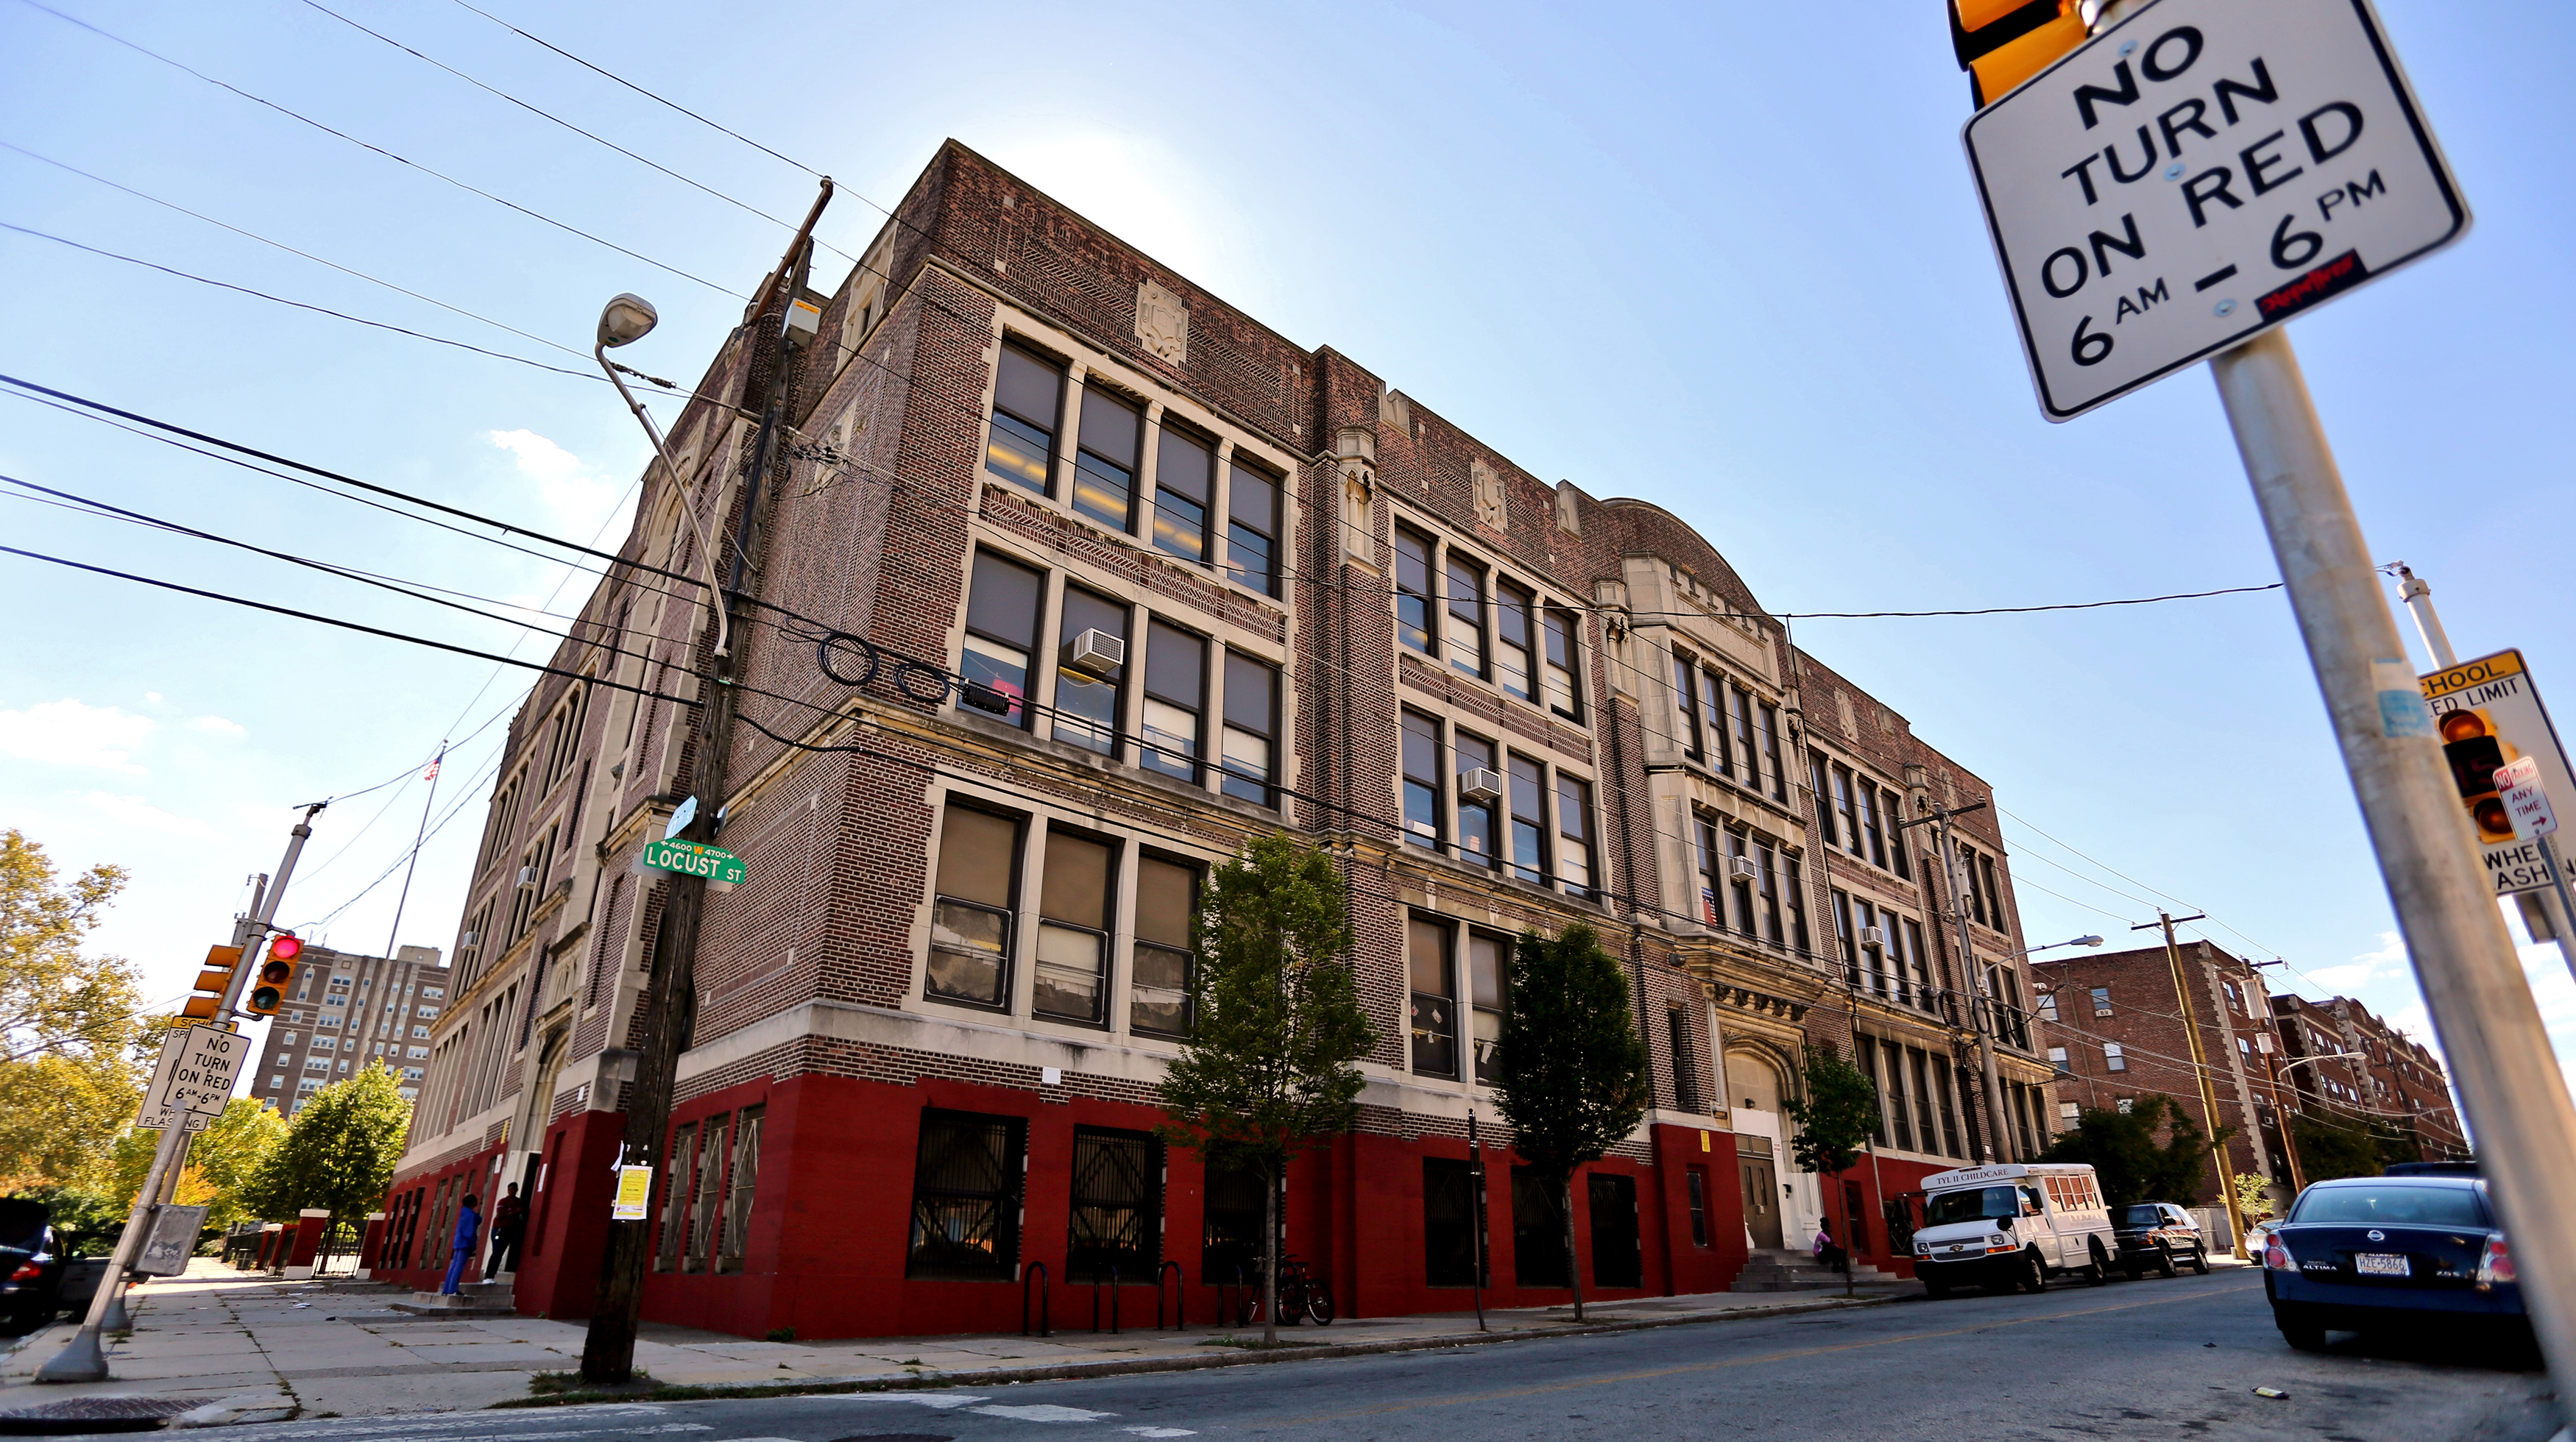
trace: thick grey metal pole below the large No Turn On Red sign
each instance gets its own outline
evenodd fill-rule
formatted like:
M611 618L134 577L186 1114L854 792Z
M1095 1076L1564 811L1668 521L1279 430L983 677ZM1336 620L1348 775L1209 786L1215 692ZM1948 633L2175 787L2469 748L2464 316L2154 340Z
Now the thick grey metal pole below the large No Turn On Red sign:
M2406 955L2478 1138L2558 1406L2576 1424L2576 1097L2504 930L2290 337L2210 360Z

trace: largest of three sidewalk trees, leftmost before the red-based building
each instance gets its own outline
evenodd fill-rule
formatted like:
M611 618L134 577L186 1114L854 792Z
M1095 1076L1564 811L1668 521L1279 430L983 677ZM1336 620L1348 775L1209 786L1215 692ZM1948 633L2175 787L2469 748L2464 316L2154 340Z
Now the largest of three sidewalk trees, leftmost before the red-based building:
M1332 857L1273 832L1208 876L1193 924L1195 1027L1164 1071L1157 1133L1262 1177L1262 1339L1278 1342L1278 1195L1288 1161L1360 1118L1376 1045L1350 973Z

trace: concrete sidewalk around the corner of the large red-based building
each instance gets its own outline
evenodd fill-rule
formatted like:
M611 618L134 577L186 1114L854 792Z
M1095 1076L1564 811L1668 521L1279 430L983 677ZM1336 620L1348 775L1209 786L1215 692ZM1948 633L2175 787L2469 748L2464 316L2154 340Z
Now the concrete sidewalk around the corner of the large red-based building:
M1731 1316L1875 1306L1904 1293L1710 1293L1584 1308L1589 1326L1667 1326ZM33 1385L70 1326L49 1326L0 1360L0 1411L75 1396L188 1396L240 1409L286 1406L294 1416L376 1416L482 1409L526 1398L536 1372L580 1367L580 1321L528 1316L415 1318L389 1311L407 1293L363 1282L273 1282L198 1259L185 1277L137 1288L126 1306L134 1334L111 1342L113 1380ZM1128 1298L1136 1300L1136 1298ZM1056 1298L1056 1321L1087 1326L1090 1300ZM1574 1324L1574 1308L1486 1311L1492 1334L1543 1334ZM894 1383L974 1375L981 1383L1036 1380L1095 1370L1162 1370L1267 1360L1216 1339L1260 1339L1260 1329L1074 1331L1054 1336L866 1336L845 1342L747 1342L719 1331L644 1324L636 1367L662 1385ZM1296 1354L1350 1354L1455 1347L1476 1339L1473 1313L1283 1326Z

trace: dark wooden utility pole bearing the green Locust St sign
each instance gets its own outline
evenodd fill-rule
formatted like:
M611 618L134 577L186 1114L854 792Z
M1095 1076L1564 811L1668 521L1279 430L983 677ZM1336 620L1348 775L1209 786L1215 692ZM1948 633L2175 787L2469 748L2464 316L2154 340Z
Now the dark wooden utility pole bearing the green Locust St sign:
M796 304L804 288L806 265L811 263L811 237L814 221L822 219L822 209L832 201L832 180L822 183L822 193L814 198L814 209L806 211L801 227L796 227L796 239L788 242L786 255L778 260L778 270L752 299L750 324L752 327L752 353L744 363L744 399L760 391L760 440L752 445L750 482L742 497L742 528L734 536L737 566L732 574L732 587L716 592L708 590L706 605L711 613L711 626L726 628L726 610L734 605L742 585L742 561L750 559L750 548L757 546L757 515L760 515L760 482L768 474L770 456L775 453L781 412L786 409L793 366L788 355L788 340L783 335L786 309ZM732 482L721 476L719 484ZM675 487L685 487L688 476L672 476ZM721 520L719 510L719 520ZM708 572L714 574L716 556L706 556ZM683 839L708 842L716 834L716 819L726 801L726 762L734 747L734 672L742 664L744 646L726 646L714 654L714 675L708 675L708 695L703 711L703 736L706 744L698 749L698 772L690 785L696 798L696 816L680 832ZM652 981L649 981L649 1009L644 1015L644 1045L636 1056L634 1089L626 1094L626 1136L618 1154L621 1166L657 1166L662 1159L662 1136L670 1128L670 1094L680 1069L680 1051L688 1048L688 1033L696 1022L698 999L698 924L706 914L706 878L701 876L672 876L662 899L662 922L654 932L652 948ZM665 1208L670 1200L665 1197ZM649 1251L649 1221L611 1221L608 1244L600 1254L600 1290L590 1308L590 1331L582 1339L582 1380L590 1385L618 1385L634 1375L636 1360L636 1318L644 1306L644 1262Z

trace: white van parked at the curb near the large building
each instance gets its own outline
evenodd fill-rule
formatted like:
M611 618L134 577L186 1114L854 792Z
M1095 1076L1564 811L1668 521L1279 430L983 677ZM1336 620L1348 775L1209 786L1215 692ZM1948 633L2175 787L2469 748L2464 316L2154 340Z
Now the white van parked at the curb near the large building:
M2081 1161L1963 1166L1924 1177L1914 1275L1935 1298L1968 1285L2035 1293L2053 1275L2099 1288L2117 1254L2102 1187Z

